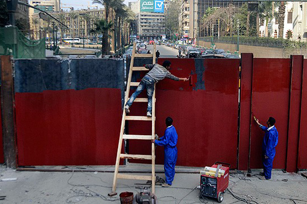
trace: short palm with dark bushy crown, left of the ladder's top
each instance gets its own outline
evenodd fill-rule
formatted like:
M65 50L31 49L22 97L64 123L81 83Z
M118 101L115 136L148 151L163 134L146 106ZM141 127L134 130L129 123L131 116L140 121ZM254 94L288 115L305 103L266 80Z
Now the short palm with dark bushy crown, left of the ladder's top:
M103 46L105 44L105 36L108 37L108 31L112 29L114 23L113 22L108 22L106 19L100 19L98 21L96 21L95 23L96 28L94 30L92 30L93 33L98 33L98 34L102 34L102 48L101 48L101 52L103 55L107 55L108 50L107 50L107 45ZM106 37L106 40L107 40Z

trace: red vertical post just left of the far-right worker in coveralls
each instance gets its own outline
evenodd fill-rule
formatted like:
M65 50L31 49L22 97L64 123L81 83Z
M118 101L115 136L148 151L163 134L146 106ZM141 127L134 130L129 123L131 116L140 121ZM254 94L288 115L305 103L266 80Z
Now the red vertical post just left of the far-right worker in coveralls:
M241 66L241 110L238 169L247 170L249 161L251 100L253 79L253 54L242 54Z

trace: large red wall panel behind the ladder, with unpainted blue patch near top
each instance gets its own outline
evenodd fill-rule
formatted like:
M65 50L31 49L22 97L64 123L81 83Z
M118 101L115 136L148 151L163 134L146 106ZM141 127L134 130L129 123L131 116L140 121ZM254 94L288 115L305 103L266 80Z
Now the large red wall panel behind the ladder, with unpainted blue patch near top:
M170 116L179 137L177 165L206 166L223 161L236 168L239 60L168 60L172 74L188 78L192 73L193 85L169 79L157 84L156 133L163 136L165 118ZM196 63L204 70L195 69L199 66ZM132 115L145 113L145 104L131 106ZM150 122L129 121L129 134L150 135ZM150 141L129 141L129 153L150 154ZM163 147L156 148L156 163L163 164Z

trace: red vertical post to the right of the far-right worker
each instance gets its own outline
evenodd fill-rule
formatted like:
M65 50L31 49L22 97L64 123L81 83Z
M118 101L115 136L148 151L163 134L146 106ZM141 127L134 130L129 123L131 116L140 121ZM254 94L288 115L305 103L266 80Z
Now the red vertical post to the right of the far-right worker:
M286 171L289 172L297 171L303 59L303 56L292 56L292 79L286 166Z

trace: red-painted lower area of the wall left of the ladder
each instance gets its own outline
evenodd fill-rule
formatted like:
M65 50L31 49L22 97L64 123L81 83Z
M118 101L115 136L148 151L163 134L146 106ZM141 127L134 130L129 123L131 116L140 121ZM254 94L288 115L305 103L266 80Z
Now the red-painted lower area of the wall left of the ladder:
M121 91L16 93L18 165L114 165Z

